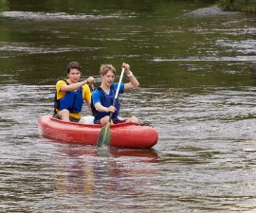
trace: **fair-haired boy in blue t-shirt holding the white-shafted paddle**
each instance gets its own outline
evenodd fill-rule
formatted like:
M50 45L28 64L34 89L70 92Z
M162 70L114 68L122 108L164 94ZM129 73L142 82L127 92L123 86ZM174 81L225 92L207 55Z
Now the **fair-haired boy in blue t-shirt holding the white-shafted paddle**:
M130 70L130 65L122 63L124 72L129 78L130 82L121 83L119 87L119 94L126 92L127 90L137 88L139 83ZM94 123L105 125L108 123L109 115L113 112L111 124L122 123L122 122L133 122L138 123L137 117L132 116L125 119L119 119L119 98L116 100L115 106L113 101L115 99L116 91L119 83L114 83L116 69L111 64L101 65L101 86L97 88L92 94L92 112L95 116Z

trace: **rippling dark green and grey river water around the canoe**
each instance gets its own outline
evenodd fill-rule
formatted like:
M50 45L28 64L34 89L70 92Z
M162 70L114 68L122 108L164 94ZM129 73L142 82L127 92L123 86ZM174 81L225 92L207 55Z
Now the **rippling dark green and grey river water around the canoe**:
M255 14L203 0L19 0L0 28L1 212L256 211ZM140 87L120 97L121 115L155 126L153 150L39 134L71 61L83 78L131 65Z

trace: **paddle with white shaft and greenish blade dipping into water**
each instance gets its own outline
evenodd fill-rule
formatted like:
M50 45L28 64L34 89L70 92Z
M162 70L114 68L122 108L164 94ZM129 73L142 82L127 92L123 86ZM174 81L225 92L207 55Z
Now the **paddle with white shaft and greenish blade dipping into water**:
M124 67L122 67L122 69L121 69L119 85L118 85L118 89L117 89L117 92L116 92L116 95L115 95L115 98L113 101L113 106L116 105L116 100L119 96L119 88L120 88L120 83L122 80L123 73L124 73ZM98 141L97 141L98 148L100 148L102 145L104 145L106 147L110 147L110 142L112 139L112 133L110 131L110 123L111 123L112 116L113 116L113 112L110 113L107 124L104 127L102 127L102 129L101 129L101 133L100 133L100 135L98 137Z

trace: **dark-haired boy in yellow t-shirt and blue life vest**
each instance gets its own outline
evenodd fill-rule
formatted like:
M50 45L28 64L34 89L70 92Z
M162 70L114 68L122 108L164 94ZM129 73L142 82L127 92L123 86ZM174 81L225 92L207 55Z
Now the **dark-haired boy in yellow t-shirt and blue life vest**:
M66 66L68 80L58 80L54 101L54 117L64 121L79 122L82 104L86 102L91 111L91 91L88 84L94 83L94 78L79 81L82 66L79 62L70 62Z

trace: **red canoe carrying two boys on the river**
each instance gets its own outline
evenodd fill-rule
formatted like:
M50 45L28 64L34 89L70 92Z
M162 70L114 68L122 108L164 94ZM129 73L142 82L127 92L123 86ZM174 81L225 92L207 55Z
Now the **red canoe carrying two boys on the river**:
M96 146L101 125L65 122L51 115L42 115L38 119L40 132L47 137L68 142ZM111 147L127 149L149 149L158 139L153 127L132 123L121 123L110 126L112 133Z

